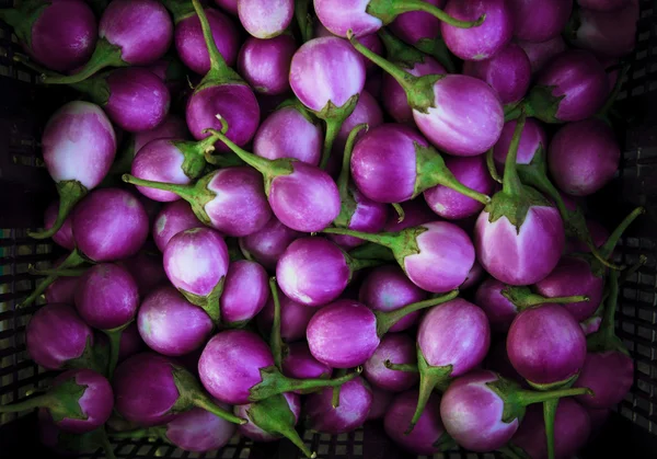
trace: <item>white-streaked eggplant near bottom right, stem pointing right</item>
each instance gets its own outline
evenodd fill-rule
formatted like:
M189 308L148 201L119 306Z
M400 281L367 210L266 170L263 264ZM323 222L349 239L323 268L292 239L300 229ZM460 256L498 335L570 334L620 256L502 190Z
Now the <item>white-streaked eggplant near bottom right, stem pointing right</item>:
M502 448L521 425L527 406L590 392L562 389L548 392L523 390L509 379L475 370L456 379L440 401L440 417L449 435L471 451ZM541 435L544 434L540 432ZM533 456L532 456L533 457Z

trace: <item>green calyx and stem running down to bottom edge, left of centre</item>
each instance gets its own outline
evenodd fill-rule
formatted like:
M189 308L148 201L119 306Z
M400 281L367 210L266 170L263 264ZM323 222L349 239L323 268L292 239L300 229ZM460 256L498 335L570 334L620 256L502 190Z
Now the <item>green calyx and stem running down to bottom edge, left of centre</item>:
M297 420L283 394L273 395L263 401L252 403L246 410L249 420L268 434L285 436L295 444L307 458L314 459L312 452L295 429Z

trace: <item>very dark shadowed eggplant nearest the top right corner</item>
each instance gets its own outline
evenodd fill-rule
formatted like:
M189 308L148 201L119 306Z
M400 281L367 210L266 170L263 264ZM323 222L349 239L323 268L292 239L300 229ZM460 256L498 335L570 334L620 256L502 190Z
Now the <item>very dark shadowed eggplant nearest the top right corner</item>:
M578 27L573 31L573 44L597 55L622 57L636 45L638 1L631 0L615 11L593 11L581 8Z

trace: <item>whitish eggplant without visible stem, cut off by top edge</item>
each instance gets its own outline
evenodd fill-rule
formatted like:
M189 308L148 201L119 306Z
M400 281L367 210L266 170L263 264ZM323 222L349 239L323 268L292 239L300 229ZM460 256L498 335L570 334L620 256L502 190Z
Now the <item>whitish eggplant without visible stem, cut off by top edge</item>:
M293 0L240 0L238 16L242 26L256 38L280 35L292 22Z

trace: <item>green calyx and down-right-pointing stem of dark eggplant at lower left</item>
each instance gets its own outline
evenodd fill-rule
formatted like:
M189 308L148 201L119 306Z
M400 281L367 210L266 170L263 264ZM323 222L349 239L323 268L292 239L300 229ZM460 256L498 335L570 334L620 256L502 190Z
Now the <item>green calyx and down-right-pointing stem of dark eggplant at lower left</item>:
M171 365L178 399L171 409L171 413L184 413L193 408L200 408L216 416L233 424L246 424L246 421L235 416L232 412L218 406L200 387L196 378L185 368Z

